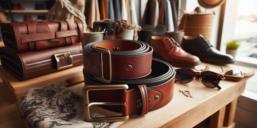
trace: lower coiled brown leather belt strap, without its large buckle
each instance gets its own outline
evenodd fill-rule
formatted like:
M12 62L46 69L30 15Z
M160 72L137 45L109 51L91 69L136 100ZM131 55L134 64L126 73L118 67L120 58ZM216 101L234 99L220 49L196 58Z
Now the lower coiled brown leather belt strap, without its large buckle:
M106 84L96 80L83 71L85 86L95 84ZM92 102L124 102L125 106L104 105L102 107L122 112L123 116L130 114L147 114L168 104L174 94L175 70L167 62L152 59L152 72L140 79L113 79L110 84L127 84L128 89L124 90L91 90L88 92L89 99ZM154 98L158 96L158 100ZM138 102L137 99L141 101ZM151 99L151 103L148 102ZM137 105L141 103L141 107Z

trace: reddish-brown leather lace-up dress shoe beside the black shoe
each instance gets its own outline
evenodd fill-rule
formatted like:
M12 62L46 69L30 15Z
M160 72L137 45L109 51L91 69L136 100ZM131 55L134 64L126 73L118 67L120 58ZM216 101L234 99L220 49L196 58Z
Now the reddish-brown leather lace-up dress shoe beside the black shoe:
M201 63L198 57L185 52L172 38L152 36L149 45L153 47L154 57L167 61L172 66L189 67Z

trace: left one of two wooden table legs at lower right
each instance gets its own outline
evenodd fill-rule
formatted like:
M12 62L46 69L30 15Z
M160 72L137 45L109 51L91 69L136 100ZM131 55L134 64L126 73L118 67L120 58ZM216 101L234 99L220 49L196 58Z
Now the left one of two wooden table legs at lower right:
M210 128L222 128L226 106L210 116Z

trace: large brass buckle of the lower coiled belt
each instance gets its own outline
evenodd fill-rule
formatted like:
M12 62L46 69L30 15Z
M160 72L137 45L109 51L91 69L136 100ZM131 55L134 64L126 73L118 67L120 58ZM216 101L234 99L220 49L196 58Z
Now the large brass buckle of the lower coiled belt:
M90 90L114 90L123 89L126 91L128 89L127 84L103 84L103 85L86 85L83 87L84 96L84 107L85 107L85 120L87 122L114 122L114 121L125 121L128 120L128 116L108 116L108 117L98 117L91 118L89 113L89 107L92 105L126 105L124 102L92 102L89 103L88 91Z

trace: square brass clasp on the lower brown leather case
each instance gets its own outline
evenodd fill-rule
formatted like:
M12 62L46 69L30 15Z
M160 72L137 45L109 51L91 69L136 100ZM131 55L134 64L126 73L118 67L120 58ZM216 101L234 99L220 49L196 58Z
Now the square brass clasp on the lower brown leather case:
M60 60L58 57L61 57L61 56L64 56L64 59L65 59L65 65L66 66L62 66L60 67L59 64L60 64ZM54 58L56 59L57 61L57 70L61 70L61 69L65 69L65 68L69 68L69 67L72 67L73 66L73 61L72 61L72 56L70 54L69 51L67 52L63 52L63 53L59 53L59 54L54 54Z

